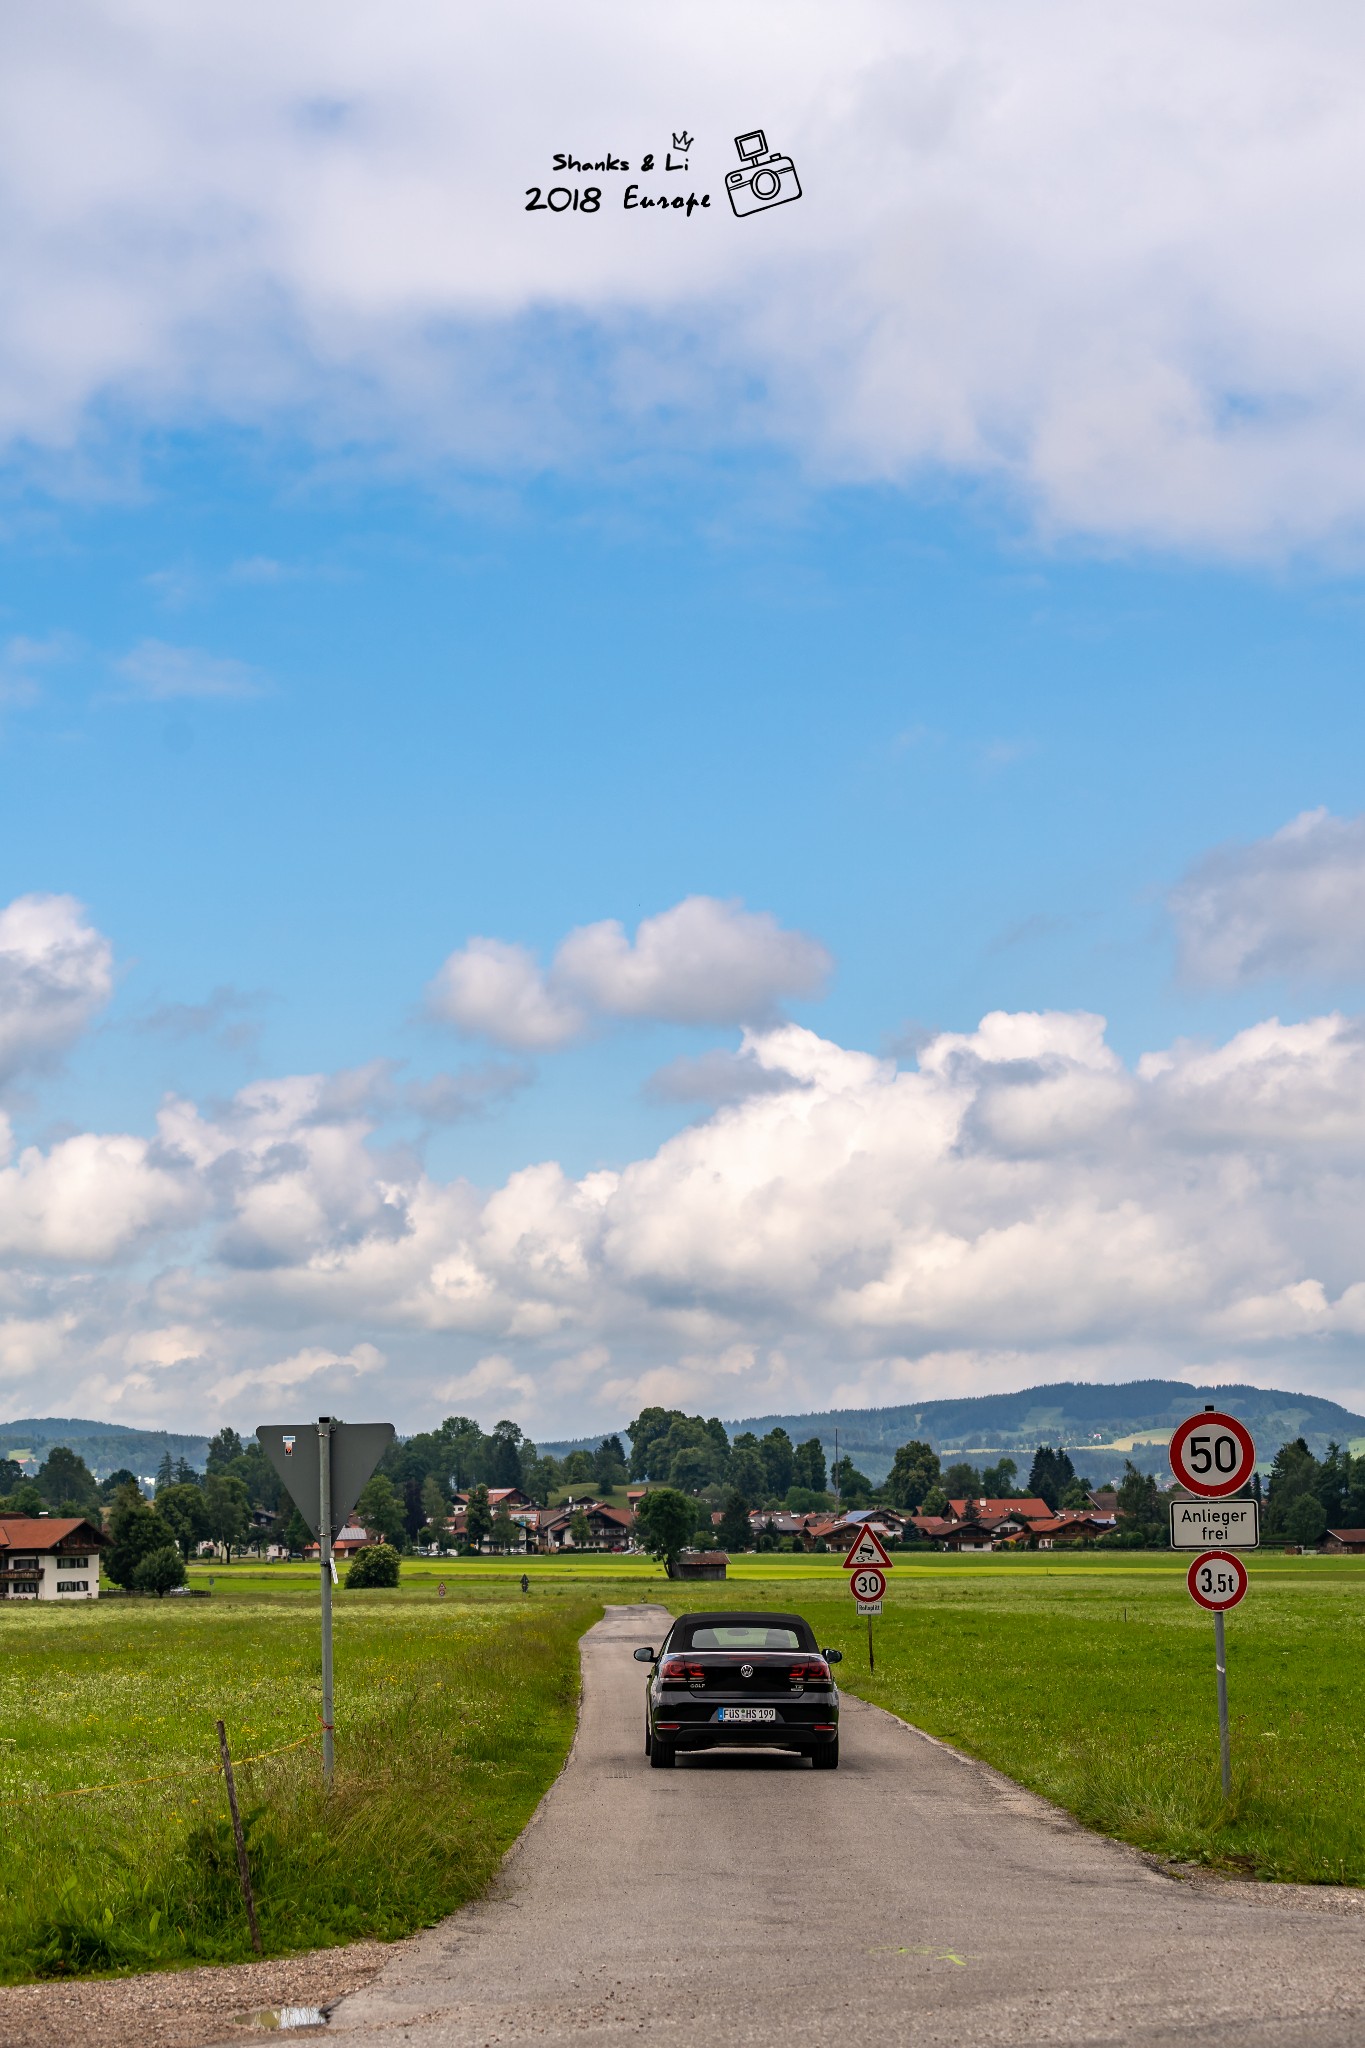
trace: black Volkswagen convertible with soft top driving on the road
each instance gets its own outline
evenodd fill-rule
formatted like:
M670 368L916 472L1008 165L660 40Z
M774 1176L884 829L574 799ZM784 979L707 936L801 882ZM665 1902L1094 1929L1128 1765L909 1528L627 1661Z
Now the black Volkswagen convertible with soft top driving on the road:
M800 1614L679 1614L651 1665L645 1753L667 1769L679 1749L794 1749L839 1769L839 1688Z

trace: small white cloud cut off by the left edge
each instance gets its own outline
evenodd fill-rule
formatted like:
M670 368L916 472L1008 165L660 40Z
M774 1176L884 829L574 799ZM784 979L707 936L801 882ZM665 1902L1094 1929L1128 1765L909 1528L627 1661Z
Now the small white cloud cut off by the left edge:
M65 895L0 909L0 1085L55 1065L108 1001L113 948Z

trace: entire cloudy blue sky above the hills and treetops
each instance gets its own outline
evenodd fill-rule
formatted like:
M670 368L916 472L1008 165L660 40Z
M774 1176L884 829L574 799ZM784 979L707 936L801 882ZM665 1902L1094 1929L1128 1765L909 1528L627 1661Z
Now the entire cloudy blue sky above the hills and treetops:
M1036 12L0 31L10 1413L1365 1403L1361 35Z

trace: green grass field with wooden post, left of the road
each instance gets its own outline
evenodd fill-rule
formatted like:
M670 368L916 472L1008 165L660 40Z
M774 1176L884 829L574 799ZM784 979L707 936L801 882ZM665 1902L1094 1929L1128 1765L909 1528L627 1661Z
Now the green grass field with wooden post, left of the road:
M338 1599L329 1798L315 1747L237 1774L266 1954L450 1913L563 1763L591 1589L432 1595ZM0 1980L250 1958L213 1724L252 1757L315 1743L317 1710L315 1573L0 1612Z

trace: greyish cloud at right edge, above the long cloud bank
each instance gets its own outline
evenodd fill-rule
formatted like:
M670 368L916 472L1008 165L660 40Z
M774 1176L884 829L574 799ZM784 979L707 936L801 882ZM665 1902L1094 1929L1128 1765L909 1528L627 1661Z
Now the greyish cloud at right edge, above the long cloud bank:
M1365 817L1304 811L1207 854L1171 893L1189 981L1365 981Z

